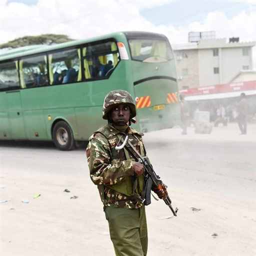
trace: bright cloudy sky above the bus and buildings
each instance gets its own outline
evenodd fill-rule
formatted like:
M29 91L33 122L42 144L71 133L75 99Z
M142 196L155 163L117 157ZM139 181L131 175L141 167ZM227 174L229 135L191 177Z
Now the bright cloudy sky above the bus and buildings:
M219 38L256 41L256 0L0 0L0 9L0 43L42 33L81 39L123 30L164 33L175 44L186 43L189 31L209 30ZM253 56L256 63L256 50Z

